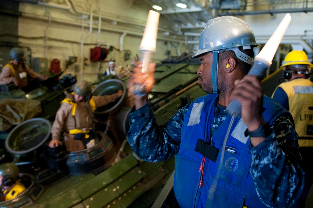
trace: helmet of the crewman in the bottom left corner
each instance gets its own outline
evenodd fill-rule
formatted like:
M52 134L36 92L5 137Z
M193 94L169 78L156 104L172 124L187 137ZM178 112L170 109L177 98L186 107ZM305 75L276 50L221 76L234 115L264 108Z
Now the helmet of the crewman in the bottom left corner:
M3 163L0 165L0 175L2 176L2 184L10 186L18 179L19 170L13 163Z

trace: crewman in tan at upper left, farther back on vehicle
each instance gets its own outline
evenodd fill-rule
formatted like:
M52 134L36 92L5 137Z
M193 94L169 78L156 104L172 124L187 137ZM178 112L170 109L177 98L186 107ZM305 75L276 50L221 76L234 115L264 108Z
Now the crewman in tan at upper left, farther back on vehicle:
M18 88L28 86L28 76L41 81L47 80L47 76L34 72L25 64L24 51L15 47L10 50L10 61L4 65L0 74L0 84L9 84L14 82Z

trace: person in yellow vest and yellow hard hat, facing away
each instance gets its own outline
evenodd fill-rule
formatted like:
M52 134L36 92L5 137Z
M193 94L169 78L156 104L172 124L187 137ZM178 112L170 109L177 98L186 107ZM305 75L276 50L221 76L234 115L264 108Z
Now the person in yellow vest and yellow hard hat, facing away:
M276 87L272 98L289 111L295 121L295 130L305 170L305 188L301 195L301 207L313 183L311 158L313 151L313 83L310 68L313 65L304 51L292 50L282 62L281 69L286 82Z

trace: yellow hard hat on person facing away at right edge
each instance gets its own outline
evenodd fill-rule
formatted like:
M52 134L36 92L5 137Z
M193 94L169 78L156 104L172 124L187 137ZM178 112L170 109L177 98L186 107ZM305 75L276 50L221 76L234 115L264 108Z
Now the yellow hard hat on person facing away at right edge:
M302 50L292 50L289 52L285 59L281 63L280 69L284 66L294 65L294 64L305 64L308 65L307 68L313 67L313 64L310 63L308 56Z

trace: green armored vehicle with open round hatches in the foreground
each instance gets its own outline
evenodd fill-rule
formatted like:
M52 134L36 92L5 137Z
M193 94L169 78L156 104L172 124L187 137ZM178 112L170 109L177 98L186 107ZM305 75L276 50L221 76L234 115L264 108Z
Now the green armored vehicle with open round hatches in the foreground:
M205 93L198 85L199 65L156 67L156 84L149 94L156 120L165 123L177 110ZM95 81L93 95L123 96L96 109L96 145L77 152L49 148L51 122L33 118L10 131L6 149L27 190L0 207L151 207L174 170L174 158L159 163L141 160L127 140L125 107L127 78ZM108 110L109 109L109 110ZM27 174L28 177L25 176ZM32 177L30 177L32 176Z

